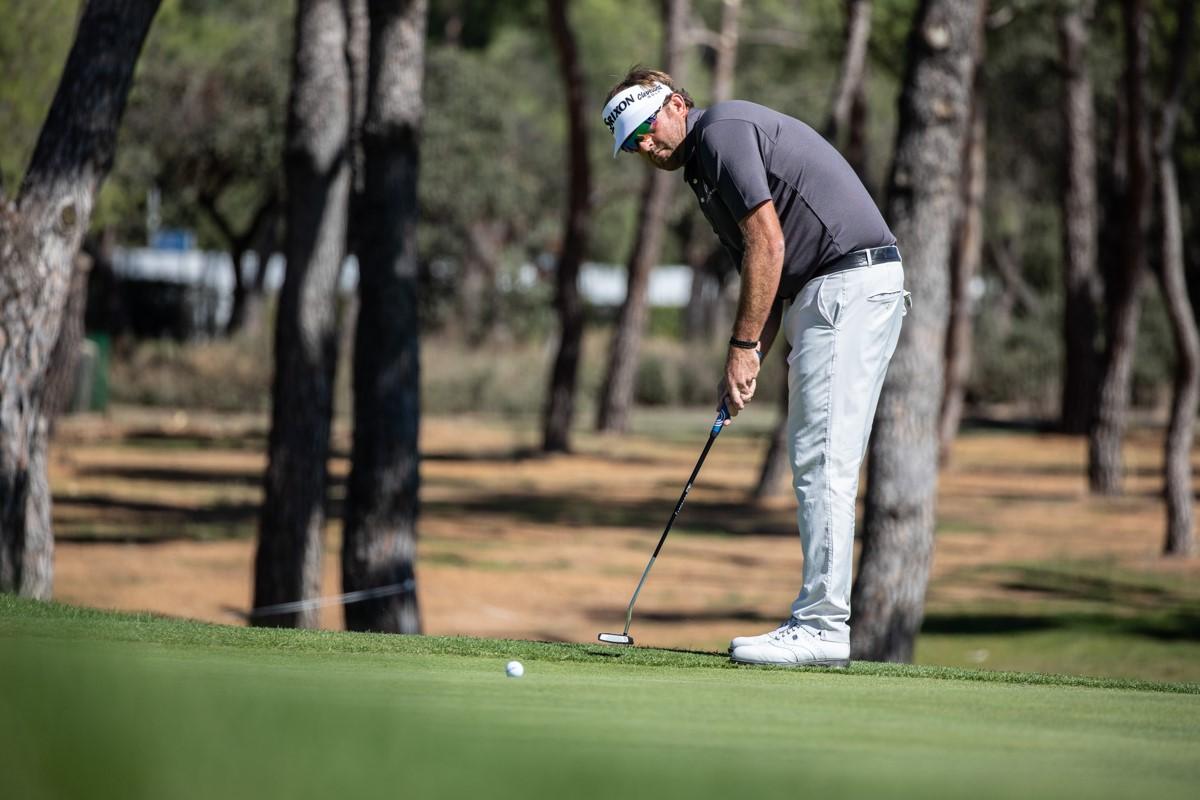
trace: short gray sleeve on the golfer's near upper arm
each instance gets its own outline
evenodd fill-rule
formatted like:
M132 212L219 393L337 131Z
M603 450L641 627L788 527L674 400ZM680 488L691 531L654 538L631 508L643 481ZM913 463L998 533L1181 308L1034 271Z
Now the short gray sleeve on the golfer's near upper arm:
M700 164L734 221L770 199L758 128L744 120L714 122L700 140Z

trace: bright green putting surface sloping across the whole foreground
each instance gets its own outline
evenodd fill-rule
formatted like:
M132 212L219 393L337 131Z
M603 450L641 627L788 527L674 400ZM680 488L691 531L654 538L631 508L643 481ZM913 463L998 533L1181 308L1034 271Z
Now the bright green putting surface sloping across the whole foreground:
M509 679L504 663L524 662ZM277 631L0 596L12 798L1194 796L1194 684Z

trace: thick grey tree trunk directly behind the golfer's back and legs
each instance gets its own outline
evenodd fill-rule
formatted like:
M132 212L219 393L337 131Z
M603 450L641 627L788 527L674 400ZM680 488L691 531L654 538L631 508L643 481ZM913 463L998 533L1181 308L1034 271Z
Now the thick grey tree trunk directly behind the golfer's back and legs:
M854 583L856 658L911 661L934 555L947 276L980 0L922 0L908 40L887 217L912 311L883 384Z

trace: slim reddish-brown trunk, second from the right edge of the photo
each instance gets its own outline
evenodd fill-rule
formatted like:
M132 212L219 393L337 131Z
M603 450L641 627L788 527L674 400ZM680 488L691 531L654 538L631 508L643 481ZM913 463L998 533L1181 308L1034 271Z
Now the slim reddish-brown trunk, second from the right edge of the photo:
M1126 136L1126 204L1121 237L1121 264L1108 282L1108 342L1100 380L1096 425L1088 437L1087 477L1092 492L1120 494L1126 416L1133 356L1141 312L1139 291L1146 269L1146 234L1151 190L1150 143L1146 124L1146 2L1124 0L1126 37L1124 96L1128 119Z

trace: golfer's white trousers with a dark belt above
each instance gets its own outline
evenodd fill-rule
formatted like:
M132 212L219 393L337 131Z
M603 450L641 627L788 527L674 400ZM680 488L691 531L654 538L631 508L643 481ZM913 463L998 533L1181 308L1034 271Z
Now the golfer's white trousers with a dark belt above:
M787 435L804 548L792 616L832 640L850 640L859 468L906 313L900 261L814 278L784 311Z

